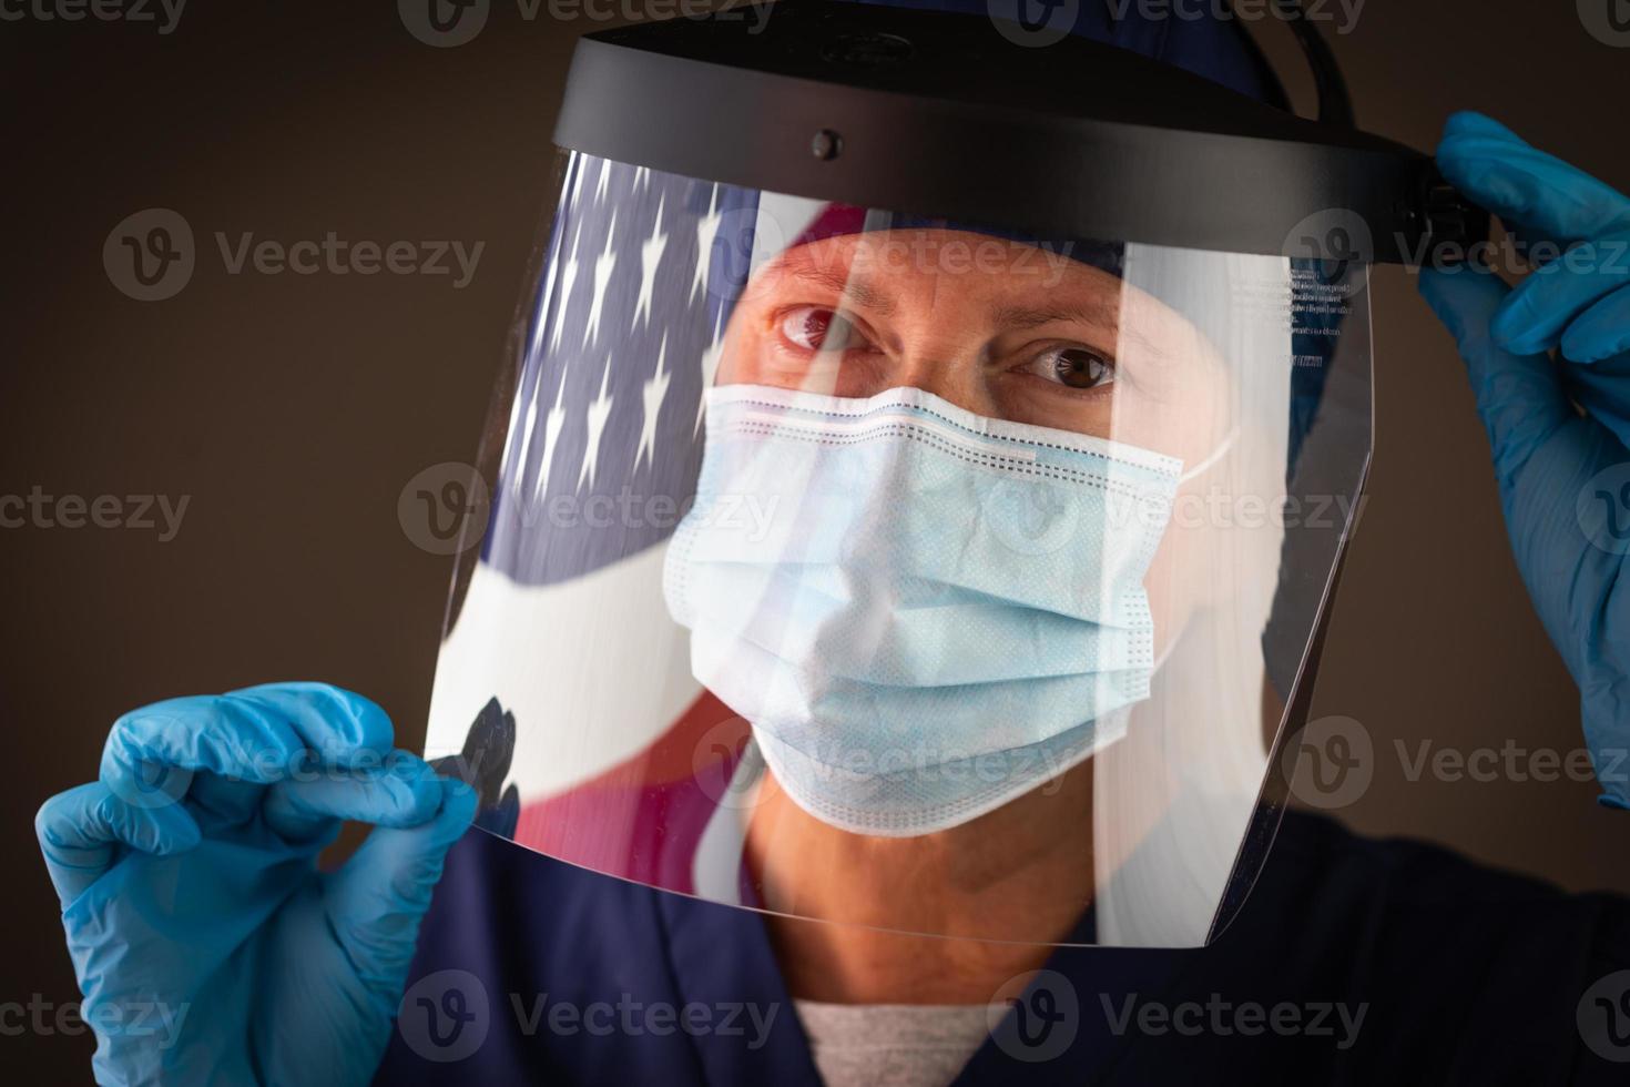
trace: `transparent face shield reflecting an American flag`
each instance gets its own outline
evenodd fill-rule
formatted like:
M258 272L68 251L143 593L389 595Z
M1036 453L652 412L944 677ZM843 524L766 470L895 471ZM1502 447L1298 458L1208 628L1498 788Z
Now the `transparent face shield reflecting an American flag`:
M676 169L694 147L593 93L673 78L694 28L650 29L574 68L598 124L569 95L427 755L460 756L487 830L675 893L1205 944L1278 823L1359 508L1369 223L1299 256L1175 205L1107 231L1107 181L1058 215L857 200L900 189L862 155L822 173L859 116L755 168L784 189L730 153ZM1029 906L958 908L993 893Z

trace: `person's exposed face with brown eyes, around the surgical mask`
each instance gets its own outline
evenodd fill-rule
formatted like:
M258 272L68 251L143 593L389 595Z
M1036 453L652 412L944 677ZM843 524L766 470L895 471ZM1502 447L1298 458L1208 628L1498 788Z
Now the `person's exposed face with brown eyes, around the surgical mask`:
M1095 267L952 230L795 246L747 285L720 385L844 398L926 389L989 419L1112 438L1196 463L1227 430L1227 373L1175 311ZM1167 531L1146 588L1156 649L1205 590L1201 546Z

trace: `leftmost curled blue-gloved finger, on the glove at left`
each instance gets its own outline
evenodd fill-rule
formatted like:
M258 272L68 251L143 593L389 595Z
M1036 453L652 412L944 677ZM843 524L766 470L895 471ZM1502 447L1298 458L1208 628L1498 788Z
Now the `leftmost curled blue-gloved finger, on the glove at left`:
M121 846L165 856L200 841L184 807L132 807L99 781L46 800L34 815L34 834L64 909L119 860Z

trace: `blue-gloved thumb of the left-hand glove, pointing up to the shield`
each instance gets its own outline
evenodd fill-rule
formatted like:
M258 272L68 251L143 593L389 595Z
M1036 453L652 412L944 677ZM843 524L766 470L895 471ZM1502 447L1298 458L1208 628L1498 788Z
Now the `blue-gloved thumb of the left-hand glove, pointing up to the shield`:
M476 815L474 789L447 777L437 786L438 807L429 821L377 828L342 869L326 877L324 901L336 935L363 981L393 1002L447 851Z

